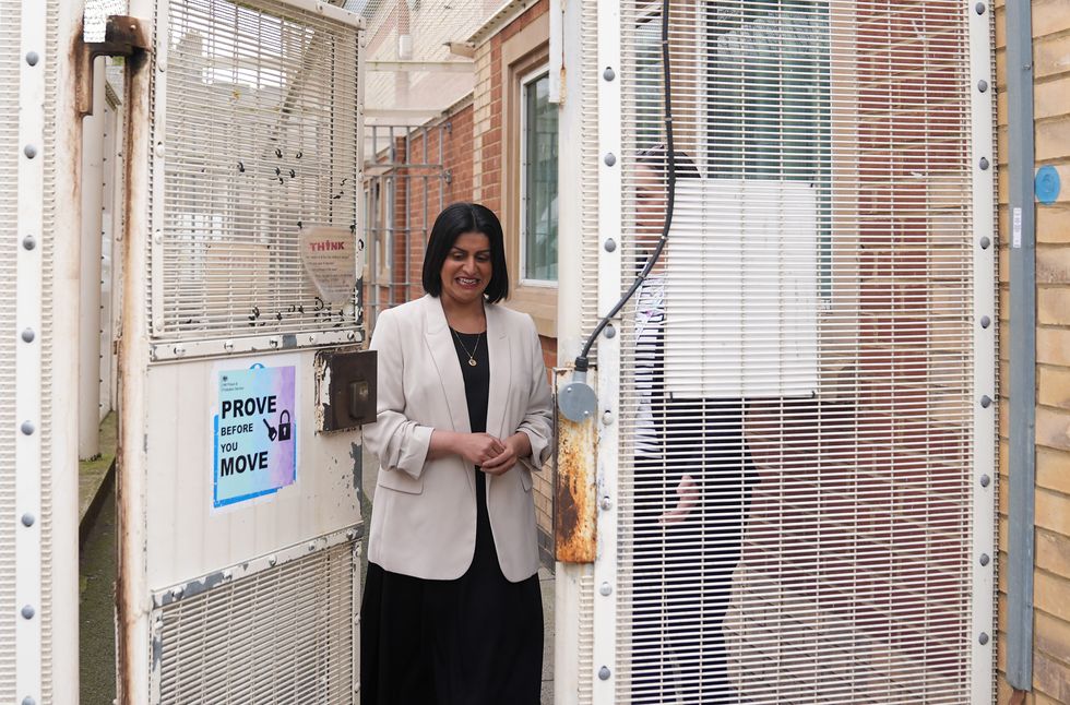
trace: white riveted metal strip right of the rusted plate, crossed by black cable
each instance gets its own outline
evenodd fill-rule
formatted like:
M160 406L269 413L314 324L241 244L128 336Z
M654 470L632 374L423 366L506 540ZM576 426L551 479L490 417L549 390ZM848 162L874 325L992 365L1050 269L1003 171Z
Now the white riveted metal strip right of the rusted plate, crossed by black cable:
M620 7L598 3L597 65L620 71ZM608 74L607 74L608 75ZM620 81L598 82L598 241L618 238L621 227L621 94ZM620 299L621 248L598 250L598 312ZM620 325L620 319L616 320ZM608 331L609 328L607 328ZM597 342L598 434L597 492L598 548L594 567L594 705L611 705L616 690L617 631L617 505L619 433L615 423L620 407L620 336Z

